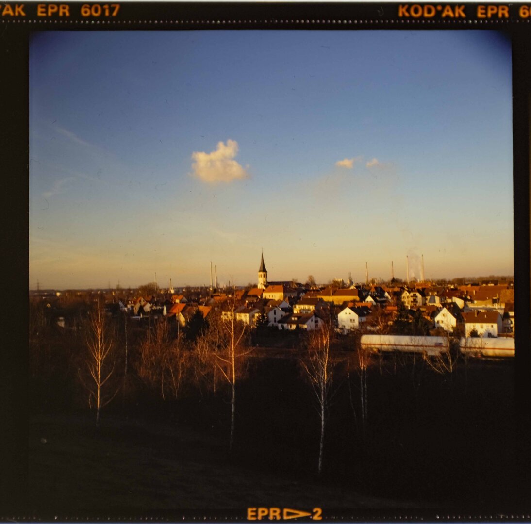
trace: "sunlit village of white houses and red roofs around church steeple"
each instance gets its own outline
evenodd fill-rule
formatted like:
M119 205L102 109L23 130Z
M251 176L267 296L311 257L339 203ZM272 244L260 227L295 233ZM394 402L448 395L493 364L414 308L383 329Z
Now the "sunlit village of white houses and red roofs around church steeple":
M409 280L409 278L408 278ZM144 293L142 293L142 291ZM263 254L256 286L220 288L211 272L210 287L167 289L157 284L136 290L98 291L105 296L108 313L120 312L132 321L156 322L165 318L177 329L187 328L198 316L207 321L219 310L223 320L234 318L254 328L279 331L320 329L324 322L333 323L337 333L356 331L396 334L464 337L513 338L515 336L513 281L489 280L465 284L416 281L402 282L392 277L375 284L368 277L355 284L349 275L327 285L317 285L312 276L305 284L294 280L270 281ZM81 295L81 291L66 291ZM60 297L60 291L42 295ZM48 303L54 308L54 301ZM56 322L68 325L57 308Z

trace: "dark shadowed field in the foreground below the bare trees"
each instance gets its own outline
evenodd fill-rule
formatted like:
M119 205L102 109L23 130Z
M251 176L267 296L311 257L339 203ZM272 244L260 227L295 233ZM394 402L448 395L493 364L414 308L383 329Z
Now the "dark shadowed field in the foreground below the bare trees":
M244 515L247 506L321 506L326 518L347 508L514 506L513 362L459 362L440 375L418 357L373 357L364 430L359 376L348 369L343 363L334 375L321 477L320 421L296 358L253 358L237 389L232 454L228 391L117 399L99 428L88 410L39 409L30 421L28 509Z

